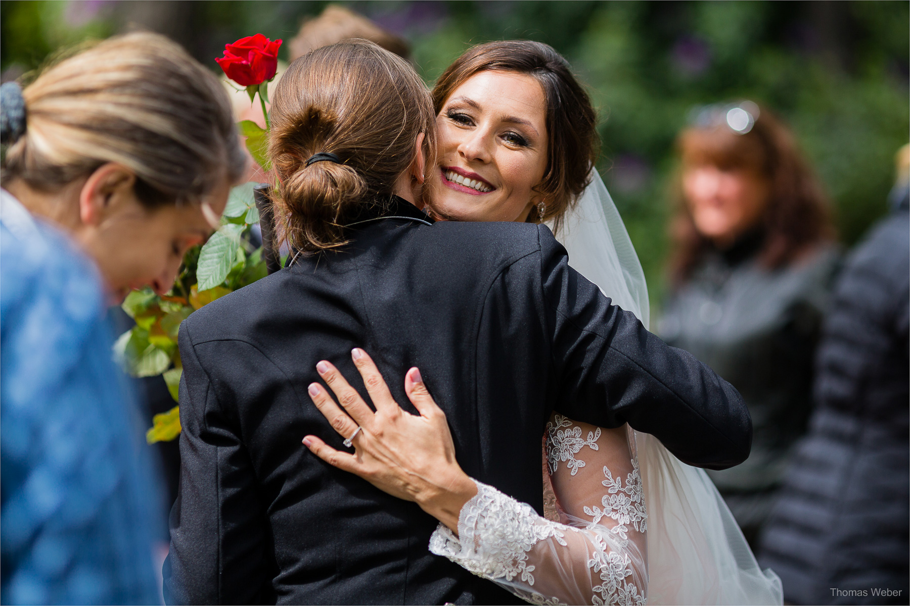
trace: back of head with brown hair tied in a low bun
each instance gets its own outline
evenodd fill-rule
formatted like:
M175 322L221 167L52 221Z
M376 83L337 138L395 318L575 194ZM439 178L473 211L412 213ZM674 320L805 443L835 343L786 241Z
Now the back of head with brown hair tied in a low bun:
M278 220L302 251L346 243L344 225L389 200L418 135L435 150L435 115L420 76L366 40L324 46L289 65L269 114ZM315 154L339 161L308 163Z

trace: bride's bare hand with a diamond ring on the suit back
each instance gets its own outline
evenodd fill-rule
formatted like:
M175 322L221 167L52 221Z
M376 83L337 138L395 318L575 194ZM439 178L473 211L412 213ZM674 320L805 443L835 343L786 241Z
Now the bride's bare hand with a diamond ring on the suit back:
M457 533L461 507L477 494L477 485L455 460L445 412L433 401L417 368L405 374L405 392L419 415L402 410L395 402L366 352L355 348L351 358L376 412L329 362L318 363L316 370L344 410L319 383L310 384L308 392L339 435L353 436L355 452L337 451L315 435L306 436L304 445L323 461L359 475L380 490L417 502Z

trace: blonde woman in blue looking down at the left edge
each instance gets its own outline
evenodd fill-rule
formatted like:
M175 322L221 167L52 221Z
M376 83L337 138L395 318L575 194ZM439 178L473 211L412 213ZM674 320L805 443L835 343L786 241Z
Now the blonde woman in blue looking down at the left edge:
M105 308L211 233L245 167L227 94L151 34L0 94L0 601L157 603L164 498Z

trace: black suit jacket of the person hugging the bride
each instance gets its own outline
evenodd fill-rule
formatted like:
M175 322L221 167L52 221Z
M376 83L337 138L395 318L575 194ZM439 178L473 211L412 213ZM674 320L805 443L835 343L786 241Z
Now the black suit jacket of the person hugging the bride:
M437 522L321 462L341 438L307 394L362 347L411 412L420 367L470 476L542 510L553 409L629 422L685 462L748 456L738 392L662 343L569 267L545 226L437 223L407 202L351 229L339 253L299 255L209 303L180 329L182 470L165 564L170 603L504 603L490 581L430 554Z

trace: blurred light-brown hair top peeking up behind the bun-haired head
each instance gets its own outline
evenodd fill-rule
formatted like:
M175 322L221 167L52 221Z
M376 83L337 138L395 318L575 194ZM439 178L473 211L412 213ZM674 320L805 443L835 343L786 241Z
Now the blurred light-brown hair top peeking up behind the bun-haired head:
M294 61L321 46L334 45L350 38L369 40L405 59L410 55L410 46L399 36L344 6L328 5L321 15L300 25L300 31L288 43L290 60Z

